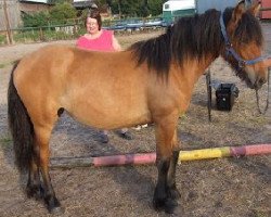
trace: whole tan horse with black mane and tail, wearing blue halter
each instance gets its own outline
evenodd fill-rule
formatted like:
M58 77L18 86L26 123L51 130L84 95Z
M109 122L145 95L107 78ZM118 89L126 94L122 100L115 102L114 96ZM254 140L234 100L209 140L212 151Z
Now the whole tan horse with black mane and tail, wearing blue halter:
M249 88L267 81L259 7L242 1L223 12L181 17L164 34L120 52L59 44L24 56L11 73L8 113L15 163L22 175L28 173L27 195L42 199L50 213L63 212L49 175L49 142L66 111L101 129L153 123L158 170L153 206L176 213L177 125L195 82L219 55Z

